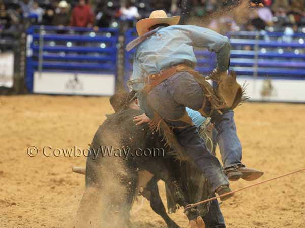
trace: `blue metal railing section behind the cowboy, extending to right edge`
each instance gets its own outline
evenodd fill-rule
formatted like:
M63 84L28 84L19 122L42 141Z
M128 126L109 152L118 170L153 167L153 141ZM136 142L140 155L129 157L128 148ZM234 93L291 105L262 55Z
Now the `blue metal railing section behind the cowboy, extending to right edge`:
M229 33L229 36L234 37L230 39L232 46L230 69L234 70L237 75L305 79L305 34L293 34L292 39L296 40L291 42L284 42L281 39L266 41L264 40L266 34L275 38L284 36L284 33L280 32L242 31ZM128 30L125 37L126 43L135 39L135 29ZM243 37L243 39L239 39L239 37ZM249 37L251 39L248 39ZM132 70L133 53L134 50L126 53L126 80L130 77ZM198 71L208 74L215 68L214 53L196 49L195 54L198 61L196 67Z

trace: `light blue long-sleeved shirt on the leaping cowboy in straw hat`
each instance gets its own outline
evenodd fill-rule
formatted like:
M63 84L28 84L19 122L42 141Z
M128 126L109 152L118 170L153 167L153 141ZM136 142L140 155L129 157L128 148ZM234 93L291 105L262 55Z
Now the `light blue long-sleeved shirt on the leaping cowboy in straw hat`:
M172 25L161 27L138 45L134 55L132 80L144 80L147 75L179 63L195 65L197 59L194 47L216 52L217 69L228 69L231 49L228 37L199 26ZM133 86L133 89L139 90L143 86L144 83L140 83Z

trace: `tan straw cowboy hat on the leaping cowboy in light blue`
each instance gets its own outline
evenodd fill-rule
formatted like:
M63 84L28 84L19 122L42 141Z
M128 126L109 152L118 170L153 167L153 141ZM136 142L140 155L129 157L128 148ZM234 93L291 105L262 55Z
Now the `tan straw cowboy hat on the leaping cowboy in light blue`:
M144 18L137 22L137 32L141 36L146 32L149 32L149 28L156 24L169 24L176 25L179 23L180 16L167 17L164 10L155 10L153 11L149 18Z

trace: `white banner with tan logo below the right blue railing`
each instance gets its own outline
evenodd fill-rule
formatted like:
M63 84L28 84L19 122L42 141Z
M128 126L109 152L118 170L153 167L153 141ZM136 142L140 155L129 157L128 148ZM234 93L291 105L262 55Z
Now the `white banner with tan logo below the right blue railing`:
M253 101L305 102L305 80L237 77L237 81L247 85L246 95Z

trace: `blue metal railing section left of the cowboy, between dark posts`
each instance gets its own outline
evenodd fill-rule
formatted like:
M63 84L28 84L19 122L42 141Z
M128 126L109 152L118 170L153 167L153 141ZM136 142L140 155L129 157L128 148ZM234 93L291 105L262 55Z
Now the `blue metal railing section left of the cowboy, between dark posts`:
M116 75L118 30L32 26L27 31L26 86L35 71ZM101 76L102 77L102 76Z

